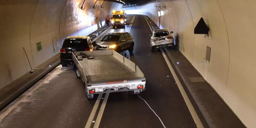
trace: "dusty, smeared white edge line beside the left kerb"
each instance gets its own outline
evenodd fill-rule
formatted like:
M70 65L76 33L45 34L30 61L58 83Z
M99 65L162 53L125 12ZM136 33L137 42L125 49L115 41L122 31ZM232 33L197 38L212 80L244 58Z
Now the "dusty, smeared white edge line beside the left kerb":
M31 88L29 88L24 94L20 95L16 100L14 100L11 104L9 104L7 107L7 110L4 112L1 111L0 114L0 122L7 116L14 108L16 108L21 102L24 102L28 96L32 95L32 93L37 90L40 86L43 84L46 84L49 82L49 80L53 79L56 75L60 74L63 70L61 69L61 65L57 66L54 71L51 73L48 73L43 79L39 80L35 85L33 85Z

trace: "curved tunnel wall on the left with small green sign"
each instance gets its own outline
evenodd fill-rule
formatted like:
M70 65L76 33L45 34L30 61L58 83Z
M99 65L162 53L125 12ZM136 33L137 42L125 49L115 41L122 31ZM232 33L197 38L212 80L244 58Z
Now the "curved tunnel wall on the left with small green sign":
M79 9L83 0L8 0L0 1L0 89L29 72L29 61L34 69L58 54L67 36L87 36L105 25L105 16L122 4L86 0L85 9ZM80 5L81 6L81 5ZM53 39L57 49L53 50ZM36 43L42 50L37 51Z

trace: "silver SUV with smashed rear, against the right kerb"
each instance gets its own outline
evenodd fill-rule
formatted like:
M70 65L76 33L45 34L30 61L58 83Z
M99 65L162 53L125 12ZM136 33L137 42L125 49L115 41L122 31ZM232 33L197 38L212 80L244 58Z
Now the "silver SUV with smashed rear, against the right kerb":
M153 31L150 39L150 47L153 51L157 51L159 48L174 47L173 32L170 32L168 28L156 29Z

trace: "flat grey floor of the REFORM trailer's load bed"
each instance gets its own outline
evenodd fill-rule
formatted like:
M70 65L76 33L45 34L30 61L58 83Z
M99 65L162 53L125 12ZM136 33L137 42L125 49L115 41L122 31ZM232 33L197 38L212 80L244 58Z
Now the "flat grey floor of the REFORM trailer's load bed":
M88 82L131 79L139 75L113 55L95 56L94 59L79 61Z

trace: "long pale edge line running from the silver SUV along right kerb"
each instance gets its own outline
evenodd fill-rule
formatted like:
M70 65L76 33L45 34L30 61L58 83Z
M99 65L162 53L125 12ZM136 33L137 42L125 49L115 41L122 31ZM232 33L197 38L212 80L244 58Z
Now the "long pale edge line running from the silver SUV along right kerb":
M198 128L203 128L203 124L202 124L202 122L200 121L200 119L199 119L197 113L195 112L195 108L194 108L193 105L191 104L191 102L190 102L190 100L189 100L189 98L188 98L188 96L187 96L187 94L186 94L184 88L182 87L182 85L181 85L181 83L180 83L180 81L179 81L179 79L178 79L178 77L177 77L177 75L176 75L174 69L172 68L172 65L171 65L170 61L169 61L168 58L166 57L166 55L165 55L163 49L161 49L161 52L162 52L162 54L163 54L163 56L164 56L164 59L165 59L167 65L168 65L168 67L169 67L169 69L170 69L170 71L171 71L171 73L172 73L172 76L174 77L174 80L176 81L176 84L177 84L177 86L178 86L178 88L179 88L179 91L181 92L181 95L182 95L183 99L185 100L185 103L187 104L187 108L189 109L189 112L191 113L192 118L193 118L194 121L195 121L195 124L197 125Z

